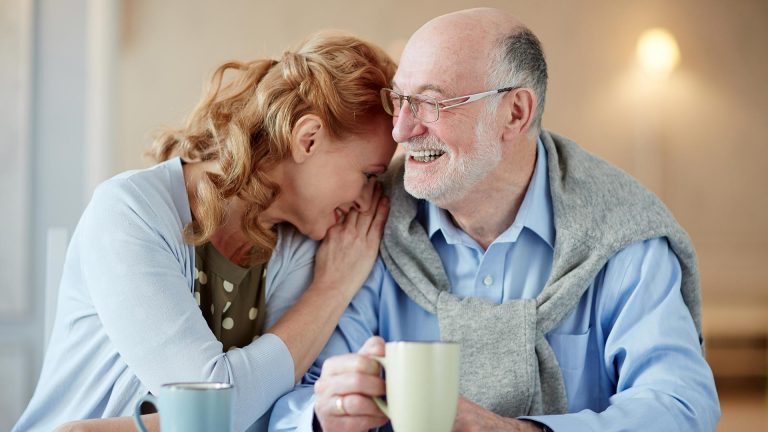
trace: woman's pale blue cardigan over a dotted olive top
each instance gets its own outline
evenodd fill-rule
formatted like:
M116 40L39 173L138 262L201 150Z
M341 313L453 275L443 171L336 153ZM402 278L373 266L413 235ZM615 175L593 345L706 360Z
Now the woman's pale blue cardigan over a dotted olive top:
M267 333L223 352L208 328L192 295L194 247L181 234L190 221L178 158L98 187L72 236L43 370L14 431L130 415L139 396L179 381L233 384L234 425L243 430L293 388L280 338ZM266 328L309 285L316 246L278 229Z

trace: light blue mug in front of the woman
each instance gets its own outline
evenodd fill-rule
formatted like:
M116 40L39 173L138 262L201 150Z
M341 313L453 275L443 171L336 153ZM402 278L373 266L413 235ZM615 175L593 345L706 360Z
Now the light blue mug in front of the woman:
M232 430L232 386L195 382L163 384L157 396L148 394L136 402L133 421L141 432L141 404L149 402L160 414L163 432L209 432Z

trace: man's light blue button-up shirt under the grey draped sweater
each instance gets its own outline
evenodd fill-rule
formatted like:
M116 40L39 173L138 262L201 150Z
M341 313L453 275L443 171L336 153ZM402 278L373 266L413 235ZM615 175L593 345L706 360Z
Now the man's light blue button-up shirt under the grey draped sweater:
M496 303L536 297L549 276L556 238L543 144L514 223L487 250L426 201L418 217L452 293ZM576 309L547 334L563 373L568 414L530 418L557 432L714 431L720 416L714 379L680 284L680 264L664 238L632 244L611 258ZM304 384L274 406L270 430L311 431L312 383L323 361L357 351L373 335L440 339L437 318L400 290L381 260Z

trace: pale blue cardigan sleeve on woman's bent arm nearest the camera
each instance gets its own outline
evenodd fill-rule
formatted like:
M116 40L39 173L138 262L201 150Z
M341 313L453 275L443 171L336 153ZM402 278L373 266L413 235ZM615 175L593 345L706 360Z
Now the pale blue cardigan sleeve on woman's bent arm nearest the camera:
M223 352L191 294L189 246L166 208L129 180L100 187L78 226L83 281L110 341L150 391L175 381L234 384L243 430L293 387L293 359L274 335Z

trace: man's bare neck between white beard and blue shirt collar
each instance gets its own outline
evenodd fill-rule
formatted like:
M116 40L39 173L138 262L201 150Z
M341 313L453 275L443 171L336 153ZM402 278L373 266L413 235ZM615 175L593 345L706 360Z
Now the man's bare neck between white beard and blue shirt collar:
M514 223L533 177L536 148L534 142L525 151L505 151L485 179L462 198L440 206L484 250Z

